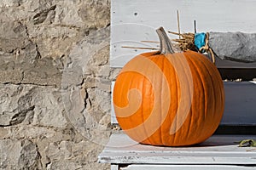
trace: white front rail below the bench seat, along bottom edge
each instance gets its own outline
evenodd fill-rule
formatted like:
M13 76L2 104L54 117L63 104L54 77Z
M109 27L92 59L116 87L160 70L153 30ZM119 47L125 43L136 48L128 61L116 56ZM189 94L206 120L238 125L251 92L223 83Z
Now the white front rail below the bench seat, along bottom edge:
M121 167L120 170L247 170L256 167L245 167L236 165L129 165Z

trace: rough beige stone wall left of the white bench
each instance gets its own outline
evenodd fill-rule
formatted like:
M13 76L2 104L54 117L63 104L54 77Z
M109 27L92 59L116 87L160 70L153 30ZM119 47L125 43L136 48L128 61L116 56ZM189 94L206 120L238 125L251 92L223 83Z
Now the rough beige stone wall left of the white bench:
M109 169L110 0L1 0L0 23L0 169Z

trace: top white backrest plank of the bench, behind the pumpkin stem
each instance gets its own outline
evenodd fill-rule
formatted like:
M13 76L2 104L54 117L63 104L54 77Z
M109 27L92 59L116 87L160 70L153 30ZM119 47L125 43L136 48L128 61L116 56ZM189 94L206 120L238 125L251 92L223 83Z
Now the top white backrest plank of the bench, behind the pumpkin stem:
M137 54L148 50L134 50L121 46L156 47L140 41L158 41L155 29L177 31L177 9L182 32L256 30L255 0L113 0L111 2L110 64L122 67Z

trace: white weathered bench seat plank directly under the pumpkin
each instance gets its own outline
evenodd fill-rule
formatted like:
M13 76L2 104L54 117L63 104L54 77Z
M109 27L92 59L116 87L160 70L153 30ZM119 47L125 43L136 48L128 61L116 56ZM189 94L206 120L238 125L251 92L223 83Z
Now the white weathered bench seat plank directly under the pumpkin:
M113 134L98 160L114 164L256 165L255 148L253 150L234 144L241 139L255 138L256 136L214 135L206 142L192 147L160 147L135 144L125 134Z

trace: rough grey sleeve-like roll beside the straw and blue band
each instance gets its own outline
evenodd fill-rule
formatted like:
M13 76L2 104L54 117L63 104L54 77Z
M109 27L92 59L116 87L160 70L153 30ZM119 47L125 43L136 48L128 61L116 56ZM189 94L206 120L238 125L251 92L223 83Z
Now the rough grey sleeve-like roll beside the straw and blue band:
M210 32L209 46L220 59L256 62L256 34Z

